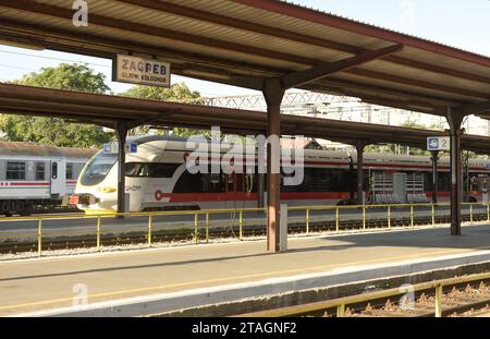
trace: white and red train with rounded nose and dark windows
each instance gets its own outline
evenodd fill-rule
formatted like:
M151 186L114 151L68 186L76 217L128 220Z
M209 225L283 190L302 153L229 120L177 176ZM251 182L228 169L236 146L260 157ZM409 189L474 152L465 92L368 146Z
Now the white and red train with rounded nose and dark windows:
M126 155L126 210L207 209L257 207L261 174L197 173L187 171L186 140L144 136L131 140L137 152ZM229 148L221 145L221 156ZM356 155L305 149L303 183L282 186L281 199L290 205L329 205L346 202L356 187ZM219 158L210 158L220 161ZM99 152L82 171L71 203L86 213L117 209L118 156ZM234 168L241 164L234 164ZM364 186L367 203L425 202L431 197L431 160L425 156L365 154ZM439 160L439 197L450 195L449 159ZM490 161L471 160L471 196L490 174Z

